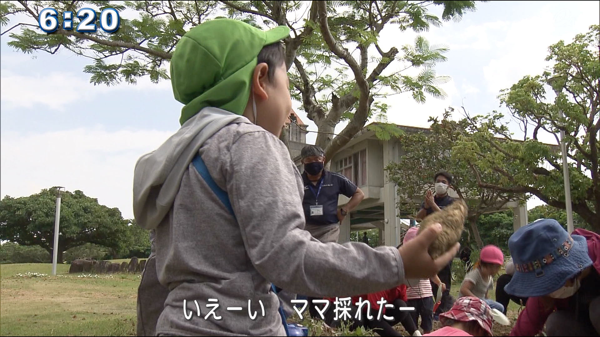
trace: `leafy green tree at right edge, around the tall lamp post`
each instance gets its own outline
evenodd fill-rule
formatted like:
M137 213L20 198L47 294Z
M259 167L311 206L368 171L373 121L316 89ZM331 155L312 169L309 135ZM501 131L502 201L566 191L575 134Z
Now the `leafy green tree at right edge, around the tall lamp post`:
M469 118L470 134L452 149L452 157L468 163L482 188L536 195L550 206L565 209L563 163L557 146L538 140L545 131L560 143L565 133L572 210L600 232L600 26L590 26L572 43L550 46L550 70L523 77L500 95L511 117L523 132L509 131L503 115ZM559 92L553 103L546 100L545 85ZM562 113L564 113L564 116ZM502 137L498 139L497 137ZM518 163L518 165L514 165ZM502 177L488 179L484 171Z

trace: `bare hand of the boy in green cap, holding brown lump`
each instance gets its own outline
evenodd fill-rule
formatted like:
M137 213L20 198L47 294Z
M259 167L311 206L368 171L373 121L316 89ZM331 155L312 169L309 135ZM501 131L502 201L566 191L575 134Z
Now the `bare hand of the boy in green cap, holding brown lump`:
M437 275L437 272L442 270L454 258L460 248L459 243L436 260L433 260L427 252L429 245L437 239L441 232L442 225L430 225L415 239L404 243L398 248L404 264L405 278L430 278Z

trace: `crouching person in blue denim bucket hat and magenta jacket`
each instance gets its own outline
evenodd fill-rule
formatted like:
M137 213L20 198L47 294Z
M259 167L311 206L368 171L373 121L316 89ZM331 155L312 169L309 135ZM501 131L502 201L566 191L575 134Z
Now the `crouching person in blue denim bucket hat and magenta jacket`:
M506 293L529 297L511 336L600 336L600 235L538 219L508 240L515 273Z

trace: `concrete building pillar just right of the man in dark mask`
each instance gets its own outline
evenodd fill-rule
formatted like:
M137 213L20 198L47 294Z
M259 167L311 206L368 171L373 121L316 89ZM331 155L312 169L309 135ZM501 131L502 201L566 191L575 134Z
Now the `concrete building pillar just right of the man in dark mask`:
M397 151L394 151L394 144L390 141L383 142L383 167L388 166L390 160L397 161ZM383 245L397 246L400 244L398 236L400 235L400 218L398 218L398 209L396 208L396 185L389 181L388 173L383 175L383 214L385 225Z

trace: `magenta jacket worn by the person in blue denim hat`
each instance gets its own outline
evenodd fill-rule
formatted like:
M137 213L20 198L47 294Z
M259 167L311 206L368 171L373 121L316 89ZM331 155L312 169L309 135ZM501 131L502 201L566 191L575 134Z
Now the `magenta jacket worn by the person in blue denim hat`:
M600 273L600 235L589 230L577 228L572 234L581 235L587 240L587 251L592 260L592 266ZM551 299L554 306L544 306L544 297L529 297L525 309L517 318L511 330L511 336L535 336L544 328L548 316L554 310L571 310L568 299ZM548 297L545 301L550 300Z

